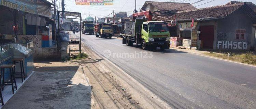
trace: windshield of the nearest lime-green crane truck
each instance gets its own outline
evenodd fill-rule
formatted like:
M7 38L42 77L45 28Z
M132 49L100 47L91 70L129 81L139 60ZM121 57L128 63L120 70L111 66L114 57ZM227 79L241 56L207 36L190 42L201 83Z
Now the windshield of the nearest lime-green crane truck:
M165 22L152 22L149 23L150 32L166 32L169 31L168 26Z

